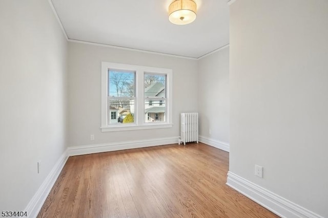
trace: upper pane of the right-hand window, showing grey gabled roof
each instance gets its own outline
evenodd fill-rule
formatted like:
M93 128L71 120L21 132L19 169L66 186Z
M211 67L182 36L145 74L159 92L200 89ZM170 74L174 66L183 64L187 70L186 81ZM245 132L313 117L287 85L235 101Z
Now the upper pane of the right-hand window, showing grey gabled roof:
M145 74L145 98L166 98L166 75Z

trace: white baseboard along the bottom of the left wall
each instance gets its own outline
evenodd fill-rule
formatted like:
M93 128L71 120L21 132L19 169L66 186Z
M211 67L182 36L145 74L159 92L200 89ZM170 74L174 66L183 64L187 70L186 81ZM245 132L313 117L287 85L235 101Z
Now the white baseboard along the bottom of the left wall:
M55 184L61 169L63 169L66 161L68 159L67 150L63 155L60 156L50 173L48 174L45 181L39 187L39 189L34 194L31 201L28 203L24 211L27 211L27 217L34 218L39 213L43 204L45 203L48 194L50 193L53 185Z

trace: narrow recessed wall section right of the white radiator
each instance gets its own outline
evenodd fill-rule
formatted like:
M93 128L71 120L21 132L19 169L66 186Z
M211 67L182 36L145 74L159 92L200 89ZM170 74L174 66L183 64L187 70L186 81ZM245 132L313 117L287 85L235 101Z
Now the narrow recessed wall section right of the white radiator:
M198 112L200 138L229 148L229 47L198 61Z

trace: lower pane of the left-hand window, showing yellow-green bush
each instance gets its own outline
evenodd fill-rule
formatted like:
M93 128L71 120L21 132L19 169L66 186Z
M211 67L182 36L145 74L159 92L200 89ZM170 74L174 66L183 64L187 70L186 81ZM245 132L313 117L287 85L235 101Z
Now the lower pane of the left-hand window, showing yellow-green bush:
M107 123L134 123L134 99L109 99Z

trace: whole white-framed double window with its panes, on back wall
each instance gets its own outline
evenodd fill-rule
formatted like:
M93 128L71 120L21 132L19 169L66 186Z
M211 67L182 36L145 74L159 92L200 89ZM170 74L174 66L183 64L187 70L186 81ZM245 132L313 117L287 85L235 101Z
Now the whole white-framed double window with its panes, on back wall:
M172 70L101 62L101 131L172 127Z

